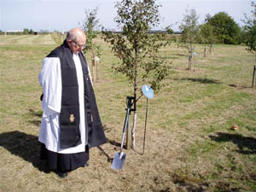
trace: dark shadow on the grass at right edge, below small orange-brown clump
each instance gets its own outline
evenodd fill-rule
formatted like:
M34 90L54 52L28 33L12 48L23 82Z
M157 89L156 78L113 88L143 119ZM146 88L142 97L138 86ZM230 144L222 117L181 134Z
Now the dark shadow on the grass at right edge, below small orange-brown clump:
M218 143L232 142L237 145L241 154L256 154L256 138L243 137L238 134L230 134L218 132L218 136L210 136L210 138Z

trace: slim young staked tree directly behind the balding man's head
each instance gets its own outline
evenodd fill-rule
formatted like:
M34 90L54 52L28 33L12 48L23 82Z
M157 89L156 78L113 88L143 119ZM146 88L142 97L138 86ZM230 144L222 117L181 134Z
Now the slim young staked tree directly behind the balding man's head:
M84 53L90 51L91 53L91 66L92 66L92 81L96 82L97 63L102 53L102 47L93 43L93 39L97 37L96 29L100 27L99 20L96 18L98 9L85 10L85 20L83 23L83 30L86 34L86 46Z

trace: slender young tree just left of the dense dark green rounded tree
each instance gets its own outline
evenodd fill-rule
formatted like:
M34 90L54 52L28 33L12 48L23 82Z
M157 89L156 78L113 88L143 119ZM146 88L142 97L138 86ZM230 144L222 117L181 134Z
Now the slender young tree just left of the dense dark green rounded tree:
M182 32L180 46L185 47L189 50L189 70L192 67L192 52L193 44L198 39L199 25L198 25L199 16L196 15L195 9L187 9L186 15L183 17L183 22L179 26L180 31Z

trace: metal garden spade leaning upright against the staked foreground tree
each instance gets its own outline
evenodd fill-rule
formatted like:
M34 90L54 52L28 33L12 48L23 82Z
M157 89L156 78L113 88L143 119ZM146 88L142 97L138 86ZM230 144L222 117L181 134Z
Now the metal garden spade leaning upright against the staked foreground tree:
M131 96L127 96L127 110L126 110L126 116L125 116L125 125L123 128L123 136L122 136L122 142L121 142L121 148L120 148L120 152L114 154L113 157L113 163L111 168L114 170L122 170L123 166L125 164L125 157L126 154L123 153L123 147L124 147L124 141L125 141L125 131L129 122L129 114L130 114L130 110L131 110Z

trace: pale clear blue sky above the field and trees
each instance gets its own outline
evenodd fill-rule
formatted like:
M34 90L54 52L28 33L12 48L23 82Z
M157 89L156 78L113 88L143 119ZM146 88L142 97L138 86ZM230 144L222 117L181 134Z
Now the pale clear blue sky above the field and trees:
M69 29L82 26L85 10L98 8L97 18L106 29L118 30L114 17L115 3L118 0L0 0L0 30L33 31L49 30L67 32ZM236 23L242 26L244 14L250 15L251 0L156 0L160 4L160 26L164 29L178 26L186 14L186 9L195 9L199 15L199 23L203 23L205 15L225 12Z

